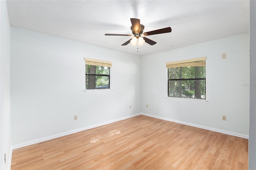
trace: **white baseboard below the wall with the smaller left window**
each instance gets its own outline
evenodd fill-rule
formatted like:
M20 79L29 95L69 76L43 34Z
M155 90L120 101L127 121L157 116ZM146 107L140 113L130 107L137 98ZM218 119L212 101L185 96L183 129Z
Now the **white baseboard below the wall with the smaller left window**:
M36 143L39 143L39 142L44 142L44 141L46 141L46 140L58 138L58 137L61 137L61 136L66 136L66 135L68 135L68 134L80 132L80 131L87 130L87 129L90 129L90 128L95 128L95 127L99 127L99 126L102 126L102 125L107 125L107 124L110 124L110 123L114 123L114 122L117 122L117 121L122 121L122 120L124 120L124 119L129 119L129 118L131 118L131 117L135 117L135 116L138 116L138 115L141 115L141 114L138 113L138 114L134 114L134 115L122 117L122 118L119 118L119 119L114 119L114 120L112 120L112 121L106 121L106 122L103 122L103 123L98 123L98 124L96 124L96 125L90 125L90 126L88 126L88 127L78 128L78 129L75 129L75 130L70 130L70 131L68 131L68 132L63 132L63 133L59 133L59 134L54 134L54 135L52 135L52 136L47 136L47 137L44 137L44 138L40 138L40 139L36 139L36 140L31 140L31 141L24 142L24 143L21 143L21 144L16 144L16 145L13 145L13 146L12 146L12 149L22 148L22 147L24 147L24 146L28 146L28 145L31 145L31 144L36 144Z

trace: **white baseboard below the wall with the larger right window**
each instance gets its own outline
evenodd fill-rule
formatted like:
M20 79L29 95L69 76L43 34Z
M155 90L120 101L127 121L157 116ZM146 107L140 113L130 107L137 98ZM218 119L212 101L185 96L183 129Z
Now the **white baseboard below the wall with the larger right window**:
M165 121L180 123L182 125L188 125L188 126L192 126L192 127L198 127L198 128L202 128L202 129L206 129L206 130L211 130L211 131L214 131L214 132L220 132L220 133L224 133L224 134L229 134L229 135L237 136L237 137L241 137L241 138L246 138L246 139L249 138L249 135L235 133L235 132L230 132L230 131L221 130L221 129L217 129L217 128L205 127L205 126L201 126L201 125L196 125L196 124L192 124L192 123L177 121L177 120L168 119L168 118L159 117L159 116L154 116L154 115L149 115L149 114L145 114L145 113L141 113L141 115L145 115L145 116L148 116L148 117L154 117L154 118L162 119L162 120L165 120Z

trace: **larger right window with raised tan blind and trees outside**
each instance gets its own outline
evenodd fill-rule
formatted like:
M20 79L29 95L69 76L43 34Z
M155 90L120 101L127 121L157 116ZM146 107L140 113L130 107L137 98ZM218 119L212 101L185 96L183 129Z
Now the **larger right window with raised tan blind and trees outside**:
M206 57L166 63L168 97L206 99Z

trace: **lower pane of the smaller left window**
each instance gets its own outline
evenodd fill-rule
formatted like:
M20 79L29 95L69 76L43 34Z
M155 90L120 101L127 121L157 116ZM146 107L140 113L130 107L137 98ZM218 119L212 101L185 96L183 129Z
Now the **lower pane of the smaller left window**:
M86 89L109 89L109 76L86 75Z

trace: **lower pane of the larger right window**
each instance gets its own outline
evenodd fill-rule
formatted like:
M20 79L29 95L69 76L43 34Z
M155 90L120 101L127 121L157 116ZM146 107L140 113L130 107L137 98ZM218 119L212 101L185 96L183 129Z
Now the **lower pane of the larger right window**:
M168 96L206 99L205 80L169 80Z

